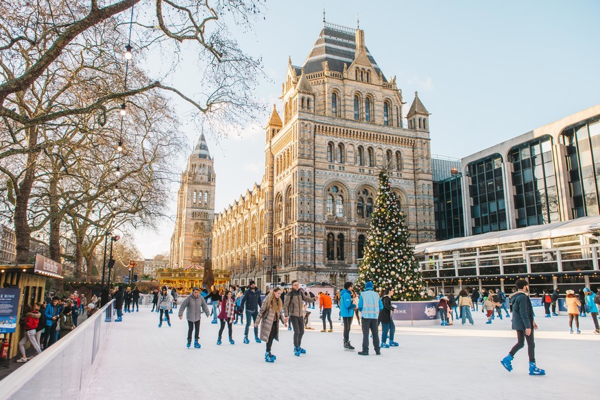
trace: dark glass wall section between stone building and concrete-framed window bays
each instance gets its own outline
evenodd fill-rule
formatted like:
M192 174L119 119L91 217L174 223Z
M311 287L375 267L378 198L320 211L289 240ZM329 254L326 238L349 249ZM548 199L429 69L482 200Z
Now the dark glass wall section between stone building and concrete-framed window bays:
M462 207L462 175L433 182L435 239L446 240L465 235Z

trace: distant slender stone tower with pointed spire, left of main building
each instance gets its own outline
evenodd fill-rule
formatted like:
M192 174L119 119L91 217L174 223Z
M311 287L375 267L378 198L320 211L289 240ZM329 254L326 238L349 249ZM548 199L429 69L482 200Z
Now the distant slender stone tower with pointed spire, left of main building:
M175 229L171 236L171 268L204 265L204 260L211 258L216 181L213 166L203 134L181 174Z

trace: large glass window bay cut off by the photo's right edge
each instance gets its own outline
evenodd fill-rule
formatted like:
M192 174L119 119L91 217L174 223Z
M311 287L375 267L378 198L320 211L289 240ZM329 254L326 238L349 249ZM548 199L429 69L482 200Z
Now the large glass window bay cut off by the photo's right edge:
M560 140L566 148L570 217L599 215L600 118L568 127Z

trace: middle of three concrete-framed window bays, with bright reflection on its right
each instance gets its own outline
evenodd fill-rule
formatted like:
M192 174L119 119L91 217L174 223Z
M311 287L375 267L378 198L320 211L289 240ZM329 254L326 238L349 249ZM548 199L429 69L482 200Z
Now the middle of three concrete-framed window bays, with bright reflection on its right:
M513 147L509 162L516 227L560 221L551 136Z

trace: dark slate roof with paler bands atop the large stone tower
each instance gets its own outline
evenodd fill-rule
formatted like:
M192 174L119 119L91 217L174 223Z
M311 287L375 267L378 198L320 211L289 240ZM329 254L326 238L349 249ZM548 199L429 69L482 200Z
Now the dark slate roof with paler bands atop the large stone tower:
M307 60L304 61L304 71L306 73L324 71L325 62L327 62L331 71L344 72L344 63L350 65L355 60L355 34L355 29L325 23ZM369 49L365 49L367 58L371 62L373 68L375 68L375 73L379 76L381 68L379 68L375 62ZM387 82L385 76L383 77L383 81Z

